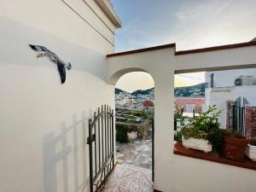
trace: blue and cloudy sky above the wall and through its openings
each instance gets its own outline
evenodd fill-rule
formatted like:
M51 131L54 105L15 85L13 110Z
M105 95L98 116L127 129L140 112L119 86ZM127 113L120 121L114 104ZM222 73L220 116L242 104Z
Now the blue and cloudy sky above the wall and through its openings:
M123 27L116 32L115 52L170 43L176 43L177 50L196 49L247 42L256 37L256 0L111 0L111 2L123 22ZM128 76L131 76L128 81L135 77L141 80L147 79L143 73L128 74ZM201 76L198 73L195 76L189 74L190 76L192 78L182 79L182 76L179 76L177 79L183 80L188 85L195 84L198 79L194 77L203 78L203 73ZM125 83L123 78L119 80L117 86L126 89L125 86L129 83ZM154 84L148 81L148 87L152 85ZM137 89L136 86L134 89Z

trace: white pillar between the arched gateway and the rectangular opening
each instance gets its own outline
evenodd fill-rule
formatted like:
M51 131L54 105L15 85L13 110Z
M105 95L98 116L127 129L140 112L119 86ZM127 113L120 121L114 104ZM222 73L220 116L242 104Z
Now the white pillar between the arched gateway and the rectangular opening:
M174 70L170 63L154 75L154 188L172 189Z

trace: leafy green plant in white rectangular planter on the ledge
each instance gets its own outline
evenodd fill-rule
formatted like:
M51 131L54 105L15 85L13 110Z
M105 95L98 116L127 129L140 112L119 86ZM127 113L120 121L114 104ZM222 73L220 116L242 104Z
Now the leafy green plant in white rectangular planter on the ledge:
M206 153L215 149L218 130L218 116L222 112L216 112L215 106L209 106L207 112L199 113L199 116L189 120L188 125L183 125L181 129L182 143L185 148L202 150ZM213 146L212 146L213 144Z

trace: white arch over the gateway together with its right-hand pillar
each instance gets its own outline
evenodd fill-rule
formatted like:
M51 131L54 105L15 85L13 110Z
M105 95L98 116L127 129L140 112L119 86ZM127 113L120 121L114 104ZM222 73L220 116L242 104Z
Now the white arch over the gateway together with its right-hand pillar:
M173 187L174 49L108 57L107 82L125 73L147 72L154 79L154 189Z

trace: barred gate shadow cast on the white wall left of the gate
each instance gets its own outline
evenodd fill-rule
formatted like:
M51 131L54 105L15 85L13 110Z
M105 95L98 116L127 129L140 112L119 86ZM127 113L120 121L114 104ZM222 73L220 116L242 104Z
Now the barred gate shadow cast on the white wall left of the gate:
M44 136L44 192L89 191L87 121L84 112L79 120L73 115L72 125L62 123L58 135Z

